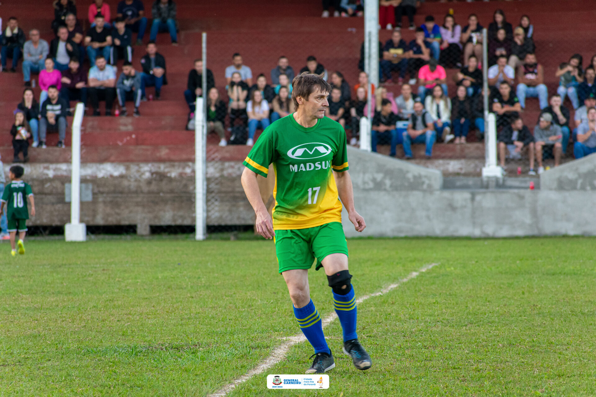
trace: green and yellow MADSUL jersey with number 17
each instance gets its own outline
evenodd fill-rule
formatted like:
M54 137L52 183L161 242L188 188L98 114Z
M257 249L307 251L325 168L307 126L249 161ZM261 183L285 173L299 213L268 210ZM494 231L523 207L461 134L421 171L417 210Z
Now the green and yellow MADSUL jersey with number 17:
M244 165L267 176L275 170L273 228L306 229L342 221L333 171L348 169L346 133L328 117L310 128L294 115L280 118L259 137Z

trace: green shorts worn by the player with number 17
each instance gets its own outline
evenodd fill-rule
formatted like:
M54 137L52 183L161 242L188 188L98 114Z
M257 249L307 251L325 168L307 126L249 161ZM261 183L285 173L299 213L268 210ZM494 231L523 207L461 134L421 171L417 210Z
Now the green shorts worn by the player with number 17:
M315 258L315 270L319 270L321 261L327 255L347 255L342 224L331 222L308 229L275 230L275 254L280 264L280 273L292 269L309 269Z

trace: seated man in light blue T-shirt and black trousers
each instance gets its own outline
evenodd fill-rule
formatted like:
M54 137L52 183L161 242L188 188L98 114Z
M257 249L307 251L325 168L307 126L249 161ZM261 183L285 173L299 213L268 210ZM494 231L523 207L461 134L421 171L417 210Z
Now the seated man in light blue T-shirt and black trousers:
M95 66L89 69L88 85L93 115L100 115L100 101L105 101L105 115L110 116L116 98L116 68L108 65L103 55L98 55Z

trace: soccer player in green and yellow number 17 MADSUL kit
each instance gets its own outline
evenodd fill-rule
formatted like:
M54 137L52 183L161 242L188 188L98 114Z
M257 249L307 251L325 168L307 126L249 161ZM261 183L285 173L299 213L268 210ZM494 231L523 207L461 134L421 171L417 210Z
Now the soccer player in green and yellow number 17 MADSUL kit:
M280 118L259 137L242 174L244 192L256 213L256 229L274 239L280 274L294 304L294 315L315 349L307 374L335 367L313 304L308 269L316 258L333 289L333 305L343 329L343 352L359 370L371 367L370 355L356 334L356 301L347 268L347 243L342 229L342 203L358 232L366 227L354 208L352 180L347 172L346 133L325 117L331 86L322 75L302 73L292 82L296 112ZM259 193L257 175L275 168L275 208L269 215ZM333 171L333 172L331 172ZM338 199L341 199L340 200Z

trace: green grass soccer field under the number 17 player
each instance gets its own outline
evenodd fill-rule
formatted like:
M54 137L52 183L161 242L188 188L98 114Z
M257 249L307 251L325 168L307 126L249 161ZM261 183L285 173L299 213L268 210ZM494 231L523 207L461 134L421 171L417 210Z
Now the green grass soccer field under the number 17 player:
M312 348L230 396L596 395L596 265L591 238L349 240L356 296L425 264L358 307L373 368L341 353L331 387L268 390L303 373ZM0 245L0 396L204 396L299 333L274 248L185 239ZM324 274L312 299L333 311Z

